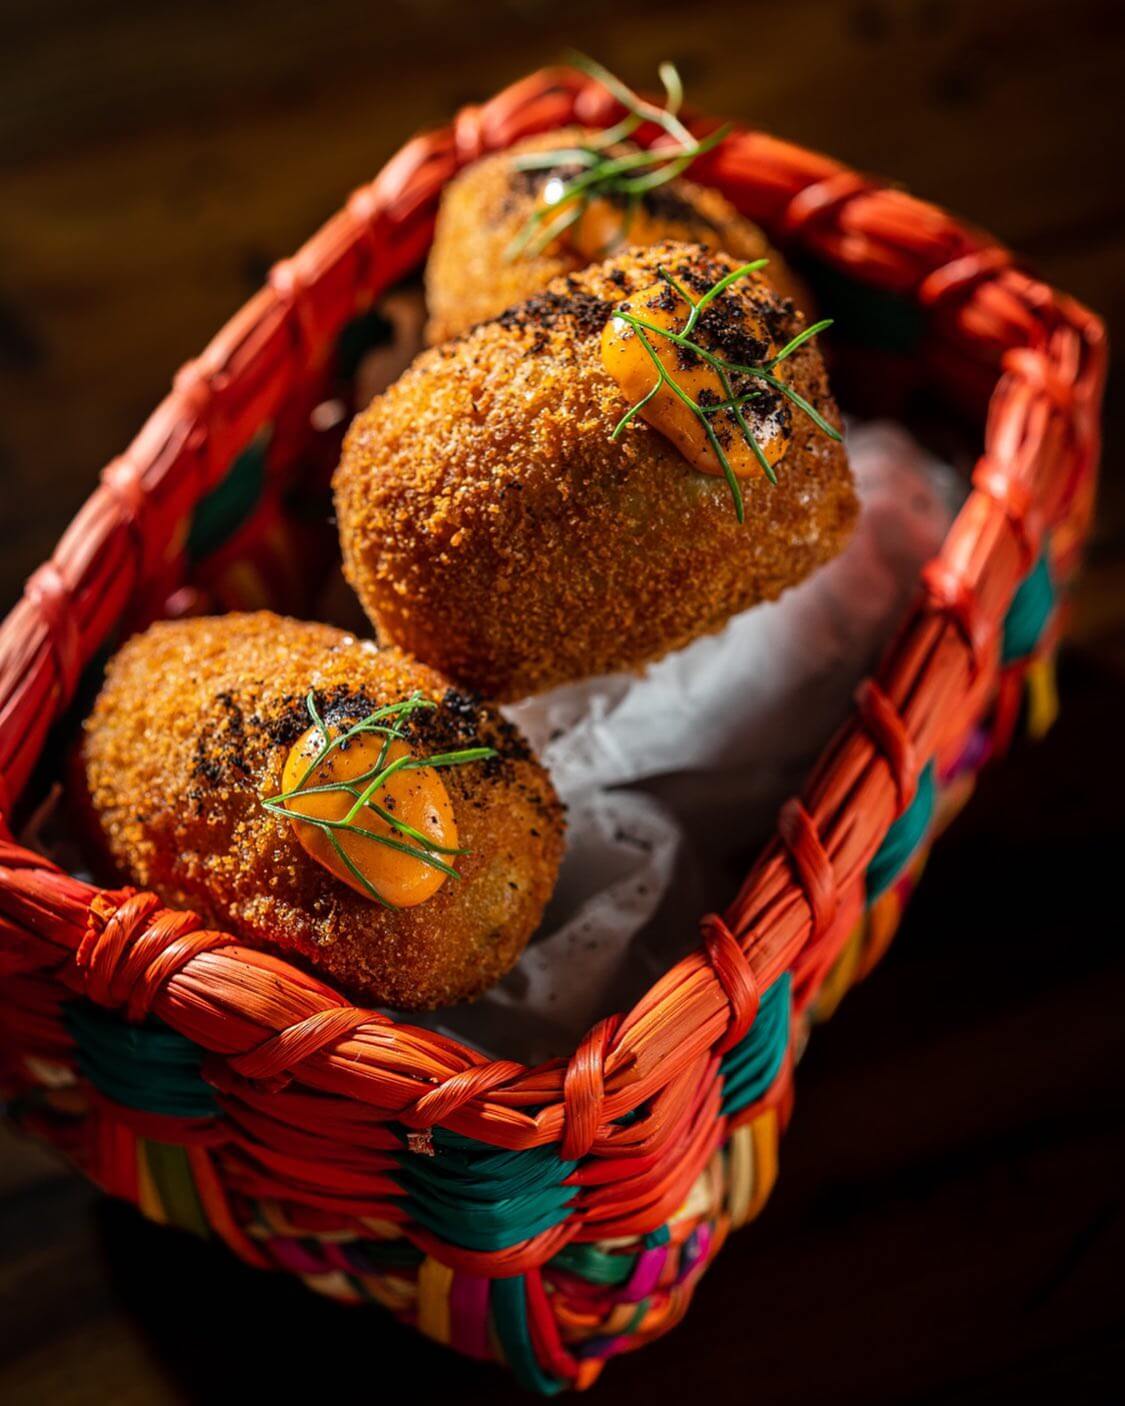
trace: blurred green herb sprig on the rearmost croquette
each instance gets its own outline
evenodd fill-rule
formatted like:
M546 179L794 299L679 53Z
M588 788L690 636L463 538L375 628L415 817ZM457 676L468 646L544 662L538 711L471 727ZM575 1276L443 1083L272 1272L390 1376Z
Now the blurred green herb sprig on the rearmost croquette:
M600 63L582 53L572 55L571 63L608 89L626 108L627 115L615 127L598 132L577 146L529 152L515 157L516 170L550 172L554 167L571 166L577 166L578 170L567 180L557 179L551 183L547 202L527 217L505 250L505 257L509 260L520 254L541 254L554 239L578 224L592 200L617 198L623 202L622 233L626 235L637 202L645 191L675 180L696 157L716 148L731 131L727 122L702 141L692 136L676 115L683 101L683 84L674 63L660 66L660 80L665 93L664 107L645 101ZM655 122L672 141L655 150L615 153L613 148L620 146L643 122Z

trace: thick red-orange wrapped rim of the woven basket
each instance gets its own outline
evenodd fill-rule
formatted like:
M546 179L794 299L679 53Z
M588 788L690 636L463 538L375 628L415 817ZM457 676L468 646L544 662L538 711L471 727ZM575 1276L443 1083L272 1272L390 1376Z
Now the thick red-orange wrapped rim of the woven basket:
M617 111L596 82L567 67L463 108L392 156L181 368L0 626L0 817L129 593L152 579L172 524L345 318L420 263L443 186L487 152L568 122L602 125ZM696 132L714 125L692 121ZM745 1033L759 993L783 972L807 977L824 963L922 768L994 682L998 627L1045 530L1069 512L1080 536L1088 520L1105 335L989 236L830 157L735 127L698 179L771 239L910 298L927 319L934 375L951 375L958 357L996 375L973 488L922 572L917 607L735 898L702 920L699 948L630 1011L598 1022L570 1059L489 1060L354 1007L329 983L205 931L152 894L103 893L6 832L0 970L49 967L131 1018L153 1011L217 1056L219 1087L297 1080L406 1126L442 1125L513 1149L561 1140L564 1154L581 1156L636 1146L643 1129L615 1128L623 1114L698 1078ZM284 1000L248 1005L231 994L236 979L243 991L280 981Z

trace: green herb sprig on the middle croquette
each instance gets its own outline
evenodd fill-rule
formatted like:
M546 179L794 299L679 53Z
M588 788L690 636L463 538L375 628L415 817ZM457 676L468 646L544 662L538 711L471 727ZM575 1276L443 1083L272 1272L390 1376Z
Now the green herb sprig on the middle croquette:
M719 436L714 433L714 426L712 425L712 416L717 415L720 411L730 411L734 419L737 420L738 432L742 434L747 444L752 450L754 457L761 464L765 477L769 479L771 484L776 484L778 475L773 472L773 465L765 457L761 444L754 437L754 432L751 430L750 425L747 423L747 418L742 413L744 405L747 405L750 401L758 399L765 392L759 387L755 387L750 391L735 395L734 387L731 384L731 375L738 375L738 377L748 375L752 377L755 381L762 381L772 389L779 391L788 401L796 405L799 411L803 411L804 415L807 415L809 419L816 425L816 427L818 430L823 430L830 439L834 440L842 439L840 430L834 429L834 426L831 426L824 419L824 416L804 399L803 395L799 395L792 388L792 385L786 385L785 381L778 380L778 377L772 374L773 368L779 366L782 361L785 361L786 357L790 357L797 350L797 347L804 346L804 343L810 337L814 337L818 332L824 332L825 328L830 328L832 325L831 318L823 318L820 322L814 322L810 328L804 328L804 330L799 332L797 336L795 336L790 342L788 342L780 349L780 352L769 357L766 361L761 361L754 366L747 366L738 361L728 361L726 360L726 357L721 357L717 353L709 352L707 347L700 346L699 342L692 340L692 332L695 330L700 315L706 311L709 304L714 302L714 299L720 297L720 294L726 292L733 283L737 283L738 278L745 278L747 274L757 273L759 269L764 269L768 263L769 263L768 259L755 259L752 263L747 263L742 264L740 269L734 269L731 273L726 274L717 283L712 284L712 287L707 288L707 291L700 298L692 298L688 290L681 287L681 284L676 283L676 280L665 269L658 269L657 274L660 276L660 278L664 283L667 283L668 287L676 294L676 297L682 298L683 302L686 302L690 309L688 314L688 321L683 323L681 332L671 332L668 328L658 328L654 322L647 322L644 318L638 318L634 312L626 312L619 309L615 311L613 314L615 319L617 319L619 322L624 322L627 326L633 329L636 336L640 337L641 346L648 353L652 366L657 368L657 380L652 382L651 391L643 395L641 399L637 401L636 405L631 405L620 418L620 420L617 420L616 426L613 427L610 439L613 440L620 439L620 436L624 433L626 427L631 423L631 420L637 415L640 415L644 406L648 405L648 402L660 392L660 388L662 385L667 385L672 391L672 394L676 395L681 401L683 401L683 404L698 416L699 423L703 426L707 436L707 443L714 450L714 457L719 460L719 464L723 470L723 477L726 478L727 486L730 488L731 498L734 499L734 512L740 523L745 522L742 489L738 485L737 474L730 467L730 460L723 451L723 446L719 443ZM668 374L668 370L661 361L657 349L652 346L650 340L650 333L660 337L665 337L668 342L674 342L676 346L683 347L686 352L699 357L702 361L706 361L706 364L712 367L712 370L719 377L719 384L723 388L724 398L721 401L716 401L714 405L700 405L698 401L693 401L692 396L688 395L688 392L683 389L683 387L678 385L676 381Z

